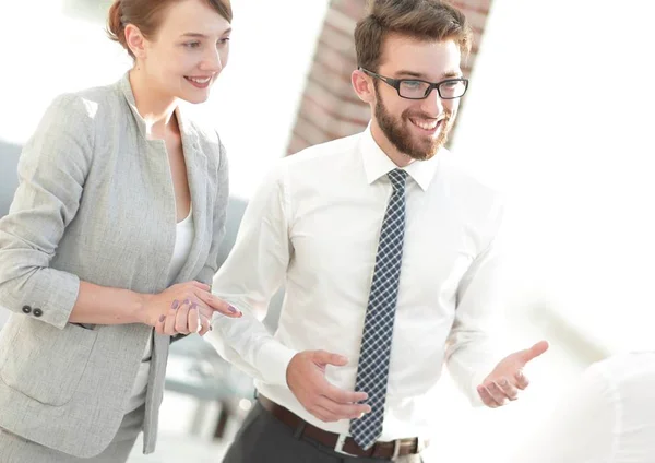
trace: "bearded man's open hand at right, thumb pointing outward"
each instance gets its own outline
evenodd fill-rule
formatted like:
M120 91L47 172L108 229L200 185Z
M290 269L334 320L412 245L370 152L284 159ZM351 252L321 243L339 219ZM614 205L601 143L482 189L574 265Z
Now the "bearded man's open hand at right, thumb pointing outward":
M546 351L548 351L548 342L540 341L531 348L515 352L500 360L491 375L477 387L485 405L497 408L507 404L508 401L515 401L519 397L519 391L527 388L529 383L523 373L523 368Z

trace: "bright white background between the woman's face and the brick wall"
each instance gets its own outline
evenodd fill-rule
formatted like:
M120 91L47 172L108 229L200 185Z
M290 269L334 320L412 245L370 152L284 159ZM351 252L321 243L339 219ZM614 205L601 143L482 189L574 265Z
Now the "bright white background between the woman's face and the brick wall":
M234 194L248 198L286 154L327 0L237 0L230 63L213 104Z

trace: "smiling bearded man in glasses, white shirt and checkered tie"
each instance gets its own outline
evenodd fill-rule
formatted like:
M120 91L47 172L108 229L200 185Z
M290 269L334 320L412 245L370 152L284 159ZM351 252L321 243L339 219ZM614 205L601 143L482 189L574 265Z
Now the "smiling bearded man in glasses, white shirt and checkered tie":
M210 341L259 391L228 463L418 462L444 360L496 407L547 348L496 364L487 343L502 204L443 147L467 88L464 15L373 1L355 44L369 128L282 159L214 278L245 316L216 320ZM254 312L283 283L273 337Z

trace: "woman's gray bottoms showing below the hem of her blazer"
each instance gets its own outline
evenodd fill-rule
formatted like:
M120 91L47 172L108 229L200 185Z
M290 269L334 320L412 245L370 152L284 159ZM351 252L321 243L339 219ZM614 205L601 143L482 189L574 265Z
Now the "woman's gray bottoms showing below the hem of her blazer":
M109 447L99 455L90 459L68 455L0 429L0 462L124 463L141 432L144 414L145 405L128 413Z

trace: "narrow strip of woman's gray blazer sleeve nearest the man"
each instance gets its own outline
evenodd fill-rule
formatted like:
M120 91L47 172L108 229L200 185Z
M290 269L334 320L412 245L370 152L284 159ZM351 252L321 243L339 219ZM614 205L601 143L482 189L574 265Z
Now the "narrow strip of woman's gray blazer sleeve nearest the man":
M207 260L198 274L198 281L206 285L212 284L214 274L218 271L219 265L219 249L225 238L225 221L227 217L227 202L229 200L229 166L227 162L227 155L225 146L218 141L219 146L219 164L218 164L218 178L216 181L216 200L214 202L214 226L212 237L212 245L210 247L210 253Z

